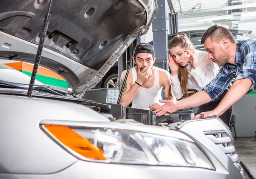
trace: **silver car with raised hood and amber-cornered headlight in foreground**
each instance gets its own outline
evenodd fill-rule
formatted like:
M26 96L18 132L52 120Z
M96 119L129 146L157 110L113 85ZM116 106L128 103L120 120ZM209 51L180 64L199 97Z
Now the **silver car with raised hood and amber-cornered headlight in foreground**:
M162 126L113 120L81 99L157 13L154 0L53 0L40 65L72 92L7 63L34 63L49 0L0 4L0 179L243 179L230 129L218 117ZM155 116L155 114L152 114Z

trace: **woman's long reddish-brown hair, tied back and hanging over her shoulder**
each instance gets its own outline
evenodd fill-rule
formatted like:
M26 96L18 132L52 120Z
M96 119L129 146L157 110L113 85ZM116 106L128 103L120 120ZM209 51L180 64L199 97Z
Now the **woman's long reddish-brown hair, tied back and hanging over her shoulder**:
M169 43L169 49L177 46L180 46L181 48L188 48L188 47L193 48L192 47L193 43L189 40L189 37L186 34L181 33L172 38L172 40ZM178 77L179 77L182 93L185 94L186 97L188 97L187 84L189 79L189 72L186 69L186 66L179 65Z

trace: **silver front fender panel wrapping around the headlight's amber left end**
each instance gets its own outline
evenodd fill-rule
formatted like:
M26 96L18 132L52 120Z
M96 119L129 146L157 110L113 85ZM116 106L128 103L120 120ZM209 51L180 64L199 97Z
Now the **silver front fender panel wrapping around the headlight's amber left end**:
M55 173L77 161L41 131L42 119L110 121L72 102L10 95L0 100L0 173Z

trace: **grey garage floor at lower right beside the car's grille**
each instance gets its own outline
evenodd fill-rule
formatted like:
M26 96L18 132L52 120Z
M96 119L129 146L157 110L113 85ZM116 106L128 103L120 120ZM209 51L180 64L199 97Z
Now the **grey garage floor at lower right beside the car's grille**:
M239 156L239 161L243 162L250 170L250 173L256 179L256 140L251 138L235 139L236 152ZM249 179L246 177L246 179Z

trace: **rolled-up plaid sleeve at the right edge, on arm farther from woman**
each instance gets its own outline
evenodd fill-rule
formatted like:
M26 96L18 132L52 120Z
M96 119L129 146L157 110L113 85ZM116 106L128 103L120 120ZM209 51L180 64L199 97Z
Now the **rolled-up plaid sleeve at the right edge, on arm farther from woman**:
M242 67L242 73L239 73L236 76L236 80L241 80L244 78L249 78L252 81L250 90L253 89L256 82L256 51L246 55Z

